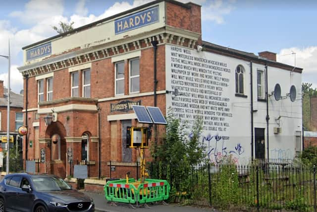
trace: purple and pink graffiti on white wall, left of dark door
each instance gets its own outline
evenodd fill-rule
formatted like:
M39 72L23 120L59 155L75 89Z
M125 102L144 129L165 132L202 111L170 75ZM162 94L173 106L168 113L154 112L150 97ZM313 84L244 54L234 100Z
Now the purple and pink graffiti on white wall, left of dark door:
M207 144L207 155L214 164L219 164L230 157L234 163L239 163L244 148L241 143L237 143L233 149L228 149L226 140L228 137L208 134L203 136L203 143Z

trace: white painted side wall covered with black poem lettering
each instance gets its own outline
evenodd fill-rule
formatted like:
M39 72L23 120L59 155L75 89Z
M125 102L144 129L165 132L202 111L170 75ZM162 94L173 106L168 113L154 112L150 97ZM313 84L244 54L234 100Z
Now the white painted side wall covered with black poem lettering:
M251 159L251 80L250 80L250 62L246 62L243 60L238 60L235 58L230 58L226 56L221 56L208 52L197 52L193 49L185 49L183 47L177 47L166 45L166 89L173 90L175 87L179 89L180 92L183 92L185 95L178 96L178 99L172 99L172 94L167 94L166 97L166 109L172 107L174 113L177 117L179 117L182 121L184 120L194 120L193 115L194 112L191 112L192 106L199 105L201 110L205 113L205 111L213 111L215 112L215 117L224 118L223 121L215 121L219 124L222 123L220 128L210 128L212 125L205 124L204 131L202 133L202 141L204 141L207 145L207 150L210 155L210 159L212 162L218 163L223 159L223 156L231 155L232 159L236 163L247 163ZM175 59L181 59L179 56L172 56L172 53L177 53L179 50L183 54L183 58L188 60L186 61L178 61ZM184 50L187 50L184 53ZM193 64L195 61L193 58L202 58L206 59L208 64L209 61L216 61L222 63L226 66L226 69L230 70L230 72L225 71L217 71L221 73L221 77L225 79L229 79L228 86L218 86L222 88L221 94L212 95L205 94L202 98L195 97L195 92L191 92L191 86L184 85L185 82L189 82L190 80L186 75L190 76L192 72L200 73L199 71L191 70L194 67L197 67L197 64ZM174 59L173 59L174 58ZM187 66L191 67L186 70L184 67L184 62L188 63ZM178 73L172 70L171 67L174 64L183 65L183 67L178 68ZM211 63L209 64L211 65ZM235 96L235 69L238 65L243 66L244 68L244 94L247 95L247 98L237 97ZM216 66L217 69L224 68L223 66ZM254 95L254 109L258 110L254 113L254 128L265 128L265 137L266 137L266 103L258 102L257 98L257 70L264 70L264 66L260 64L253 63L253 95ZM174 68L173 68L174 69ZM210 78L214 77L215 74L212 72L212 69L207 69L211 71L209 74ZM182 72L185 71L185 72ZM177 71L176 71L177 72ZM184 77L185 76L185 77ZM176 77L176 79L175 79ZM194 80L199 81L206 79L205 76L197 76ZM174 80L174 81L173 81ZM222 80L220 78L220 80ZM217 81L213 78L213 81ZM279 83L282 90L282 96L286 96L286 93L289 93L289 89L291 85L295 85L297 89L297 100L295 102L291 102L289 98L282 99L276 101L273 96L270 96L268 99L269 102L269 158L279 158L279 159L288 159L293 158L295 156L295 132L301 131L302 126L302 107L301 107L301 74L293 72L290 74L290 71L277 69L268 67L268 92L273 91L276 83ZM204 85L208 83L197 82L201 86L202 90L212 90L209 88L203 88ZM216 86L217 87L217 86ZM217 88L214 88L215 90ZM208 92L208 91L207 91ZM198 92L199 93L199 92ZM196 92L197 94L197 92ZM189 97L187 97L189 95ZM217 102L223 102L224 98L229 98L229 101L226 102L227 107L223 107L223 109L229 110L228 113L232 113L232 117L222 116L222 114L217 114L220 112L221 107L217 107L216 110L203 109L205 106L211 106L209 102L205 102L205 100L211 98L212 96L219 97ZM185 99L182 99L182 98ZM193 103L195 99L204 100L203 103ZM188 102L191 101L191 102ZM201 101L202 102L202 101ZM182 106L177 106L175 103L183 103ZM186 105L187 103L187 105ZM174 105L173 105L174 104ZM185 105L184 105L185 104ZM178 109L178 110L177 110ZM190 115L192 115L190 117ZM274 134L273 127L278 127L275 119L280 117L280 126L282 128L281 134ZM208 115L203 116L204 120L208 119ZM214 125L214 124L213 124ZM224 125L229 125L229 127L225 127ZM225 130L224 130L225 128ZM219 136L219 137L217 137ZM229 137L228 140L219 138ZM265 138L265 142L267 142L267 138ZM267 143L265 143L265 157L267 155ZM255 155L255 154L254 154Z

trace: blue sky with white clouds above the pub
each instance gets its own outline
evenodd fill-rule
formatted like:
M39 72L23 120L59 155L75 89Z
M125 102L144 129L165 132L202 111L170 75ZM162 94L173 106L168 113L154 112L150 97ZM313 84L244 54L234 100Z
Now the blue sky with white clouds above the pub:
M11 50L11 89L23 88L22 47L52 37L59 21L75 27L151 0L0 0L0 55ZM202 5L203 40L303 68L303 82L317 87L316 0L180 0ZM7 86L7 60L0 57L0 79Z

